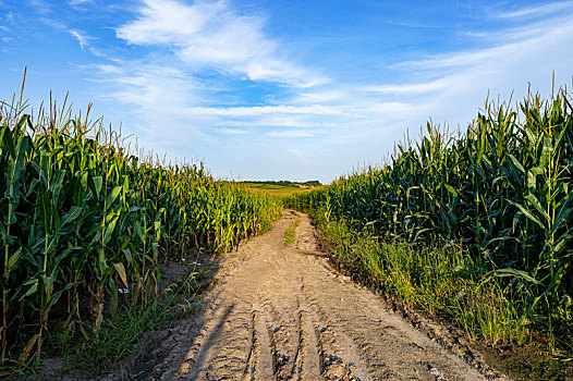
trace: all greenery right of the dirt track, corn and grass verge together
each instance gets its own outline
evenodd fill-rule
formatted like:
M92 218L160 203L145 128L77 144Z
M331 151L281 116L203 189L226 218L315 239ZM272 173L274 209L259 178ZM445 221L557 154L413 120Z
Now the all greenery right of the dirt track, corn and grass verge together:
M293 195L389 292L490 344L573 351L573 112L564 90L428 123L380 168Z

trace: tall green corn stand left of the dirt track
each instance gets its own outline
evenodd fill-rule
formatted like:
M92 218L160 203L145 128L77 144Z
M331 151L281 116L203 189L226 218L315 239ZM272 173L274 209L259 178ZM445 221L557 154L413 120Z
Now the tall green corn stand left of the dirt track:
M269 228L280 201L203 167L142 159L88 112L0 103L2 365L39 355L53 325L97 332L118 305L158 295L158 263L225 251ZM119 293L130 292L126 299Z

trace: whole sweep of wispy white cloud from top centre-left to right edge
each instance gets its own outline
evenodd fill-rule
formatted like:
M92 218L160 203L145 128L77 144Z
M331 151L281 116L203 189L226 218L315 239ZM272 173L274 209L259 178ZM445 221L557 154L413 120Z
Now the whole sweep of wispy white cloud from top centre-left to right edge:
M197 153L218 173L268 158L269 168L289 162L289 173L304 168L328 180L341 168L379 161L429 118L471 122L488 91L507 99L516 89L519 98L528 82L544 90L553 70L558 83L569 81L570 3L503 16L484 10L493 26L459 29L466 49L420 49L415 60L390 62L387 74L294 60L266 33L264 16L230 1L144 0L115 29L129 45L122 48L143 53L97 69L106 97L136 115L129 125L147 146ZM545 16L533 19L535 12Z

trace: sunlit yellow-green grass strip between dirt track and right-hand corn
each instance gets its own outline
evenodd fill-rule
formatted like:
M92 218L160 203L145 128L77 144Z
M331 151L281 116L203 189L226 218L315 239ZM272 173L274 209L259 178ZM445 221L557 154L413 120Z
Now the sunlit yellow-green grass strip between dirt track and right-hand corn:
M315 216L336 253L356 271L431 317L463 327L488 344L523 343L528 334L521 316L498 282L485 282L480 267L460 243L413 245L387 241L371 229L355 231L344 220Z

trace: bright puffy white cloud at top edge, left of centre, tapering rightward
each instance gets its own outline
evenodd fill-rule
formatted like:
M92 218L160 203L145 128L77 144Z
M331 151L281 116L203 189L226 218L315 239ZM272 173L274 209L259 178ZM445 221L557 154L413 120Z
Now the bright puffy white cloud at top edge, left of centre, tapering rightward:
M327 79L281 57L278 42L264 32L264 19L234 12L227 1L144 0L139 17L117 29L134 45L164 46L196 67L308 87Z

